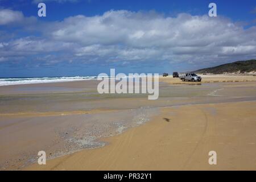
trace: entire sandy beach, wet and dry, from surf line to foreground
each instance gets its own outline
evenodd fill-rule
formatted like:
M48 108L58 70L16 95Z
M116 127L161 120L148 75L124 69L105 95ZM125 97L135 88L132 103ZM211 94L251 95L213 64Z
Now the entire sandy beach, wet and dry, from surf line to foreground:
M0 86L1 170L255 170L256 77L202 77L160 77L154 101L97 81Z

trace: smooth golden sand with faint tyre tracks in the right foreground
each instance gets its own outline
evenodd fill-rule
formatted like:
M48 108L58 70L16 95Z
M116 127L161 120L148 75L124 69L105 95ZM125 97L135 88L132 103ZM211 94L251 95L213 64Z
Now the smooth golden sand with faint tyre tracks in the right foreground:
M255 170L256 102L168 107L110 144L26 170ZM217 152L209 165L208 152Z

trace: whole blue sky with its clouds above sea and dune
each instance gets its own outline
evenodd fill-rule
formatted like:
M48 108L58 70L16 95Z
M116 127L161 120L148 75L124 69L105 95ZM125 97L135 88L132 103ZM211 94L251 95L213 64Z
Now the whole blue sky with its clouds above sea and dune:
M255 58L255 0L0 0L0 77L172 73Z

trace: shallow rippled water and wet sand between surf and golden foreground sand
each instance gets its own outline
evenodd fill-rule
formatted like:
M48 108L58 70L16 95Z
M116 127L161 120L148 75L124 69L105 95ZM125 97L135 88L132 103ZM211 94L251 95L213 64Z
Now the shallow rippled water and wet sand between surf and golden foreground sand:
M40 150L55 158L104 146L102 137L149 121L159 114L160 107L256 100L256 85L246 82L160 83L159 98L154 101L147 100L147 94L101 95L97 84L88 85L1 87L1 169L19 169L36 162Z

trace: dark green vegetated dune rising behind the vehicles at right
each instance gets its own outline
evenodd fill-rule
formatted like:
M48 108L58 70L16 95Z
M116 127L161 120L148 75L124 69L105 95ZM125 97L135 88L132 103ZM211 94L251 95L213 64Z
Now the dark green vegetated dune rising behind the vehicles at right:
M256 71L256 60L236 61L233 63L221 64L217 67L203 68L194 71L196 73L248 73Z

